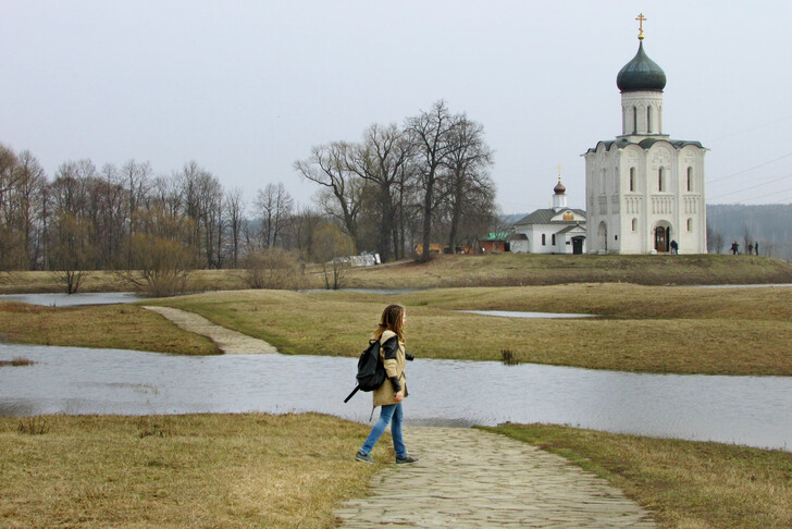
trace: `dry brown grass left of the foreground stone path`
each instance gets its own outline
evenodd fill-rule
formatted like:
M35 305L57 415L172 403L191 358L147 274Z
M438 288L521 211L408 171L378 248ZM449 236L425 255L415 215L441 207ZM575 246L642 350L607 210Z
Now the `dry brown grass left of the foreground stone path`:
M315 414L42 420L0 419L3 527L333 527L382 468L354 462L368 427Z

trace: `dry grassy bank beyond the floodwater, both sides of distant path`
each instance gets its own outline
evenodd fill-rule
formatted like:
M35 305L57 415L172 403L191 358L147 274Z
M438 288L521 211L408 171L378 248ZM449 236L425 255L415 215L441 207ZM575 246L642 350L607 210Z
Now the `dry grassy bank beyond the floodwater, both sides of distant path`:
M263 340L284 354L354 357L382 307L393 302L408 307L408 347L420 358L500 361L508 352L520 362L591 369L792 376L790 287L576 284L446 288L396 296L234 291L146 304L200 315L225 329ZM23 343L218 352L206 339L141 310L137 305L53 309L0 304L0 328L5 330L4 340ZM525 320L460 310L574 312L601 318Z

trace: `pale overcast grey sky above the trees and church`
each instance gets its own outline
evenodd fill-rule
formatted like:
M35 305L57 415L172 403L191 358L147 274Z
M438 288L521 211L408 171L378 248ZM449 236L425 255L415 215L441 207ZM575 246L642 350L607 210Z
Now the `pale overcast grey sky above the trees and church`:
M666 72L664 133L700 140L708 204L792 202L792 2L0 0L0 143L69 160L195 160L252 202L294 162L445 100L484 126L505 213L549 205L558 165L621 134L616 75Z

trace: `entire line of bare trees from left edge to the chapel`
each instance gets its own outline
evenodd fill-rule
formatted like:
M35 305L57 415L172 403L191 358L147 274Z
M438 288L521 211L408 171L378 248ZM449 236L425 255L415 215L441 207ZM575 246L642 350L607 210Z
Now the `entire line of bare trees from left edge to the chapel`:
M451 248L496 218L483 127L443 101L358 144L314 147L295 168L321 184L297 207L283 183L246 204L196 161L169 176L148 162L66 161L52 179L0 144L0 270L245 268L262 250L324 262L360 250L401 258L416 242Z

